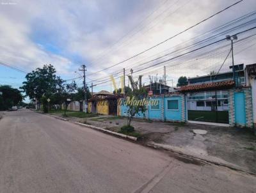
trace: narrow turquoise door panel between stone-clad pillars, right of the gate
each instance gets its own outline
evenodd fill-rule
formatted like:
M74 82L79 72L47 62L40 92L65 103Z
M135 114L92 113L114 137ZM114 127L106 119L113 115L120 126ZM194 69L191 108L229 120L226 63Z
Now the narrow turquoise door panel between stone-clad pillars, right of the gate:
M235 102L235 122L239 125L245 125L245 104L244 104L244 93L234 94Z

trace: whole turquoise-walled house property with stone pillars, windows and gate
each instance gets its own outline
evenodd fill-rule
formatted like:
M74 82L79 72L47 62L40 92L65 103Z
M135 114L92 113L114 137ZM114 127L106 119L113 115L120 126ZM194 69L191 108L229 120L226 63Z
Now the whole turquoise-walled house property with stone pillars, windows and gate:
M252 68L253 70L250 70ZM243 64L234 66L235 79L232 67L230 69L230 72L218 75L189 78L189 84L181 86L175 92L150 96L148 100L157 100L158 103L148 105L145 118L253 127L252 85L245 81L246 70ZM255 66L246 69L250 71L250 84L255 85ZM124 103L120 111L122 116L127 116ZM141 113L136 114L136 118L143 117Z

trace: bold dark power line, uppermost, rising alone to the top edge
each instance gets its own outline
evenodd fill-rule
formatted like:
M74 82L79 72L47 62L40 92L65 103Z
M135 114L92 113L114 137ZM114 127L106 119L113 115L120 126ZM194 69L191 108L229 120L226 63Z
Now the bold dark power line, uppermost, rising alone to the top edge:
M236 4L241 3L242 1L244 1L244 0L237 1L237 2L234 3L234 4L231 4L230 6L227 6L227 7L224 8L223 10L220 10L219 12L214 13L214 14L211 15L210 17L207 17L206 19L201 20L200 22L194 24L193 26L188 27L187 29L185 29L185 30L183 30L183 31L181 31L181 32L179 32L179 33L177 33L176 35L173 35L173 36L170 37L170 38L167 38L167 39L164 40L163 42L157 43L156 45L154 45L154 46L152 46L152 47L150 47L150 48L148 48L148 49L146 49L146 50L143 50L142 52L139 52L138 54L135 54L134 56L131 56L130 58L125 59L124 61L121 61L121 62L119 62L119 63L116 63L115 65L109 66L109 67L104 68L104 69L102 69L102 70L99 70L99 71L97 71L97 72L90 73L90 74L88 74L88 75L93 75L93 74L95 74L95 73L102 72L103 70L108 70L109 68L112 68L113 66L120 65L121 63L124 63L125 61L129 61L130 59L135 58L136 56L140 56L141 54L147 52L148 50L154 49L155 47L157 47L157 46L159 46L159 45L161 45L161 44L163 44L163 43L165 43L165 42L168 42L168 41L171 40L172 38L175 38L176 36L178 36L178 35L180 35L180 34L186 32L186 31L188 31L189 29L191 29L191 28L193 28L193 27L196 27L196 26L198 26L199 24L202 24L202 22L205 22L206 20L211 19L211 18L214 17L215 15L218 15L218 14L220 14L221 12L225 12L225 10L228 10L228 9L231 8L232 6L235 6Z

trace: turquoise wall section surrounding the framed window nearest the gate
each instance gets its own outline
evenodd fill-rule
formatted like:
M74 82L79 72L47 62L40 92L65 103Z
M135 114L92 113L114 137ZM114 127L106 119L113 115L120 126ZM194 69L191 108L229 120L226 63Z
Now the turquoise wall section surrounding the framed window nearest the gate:
M178 100L178 109L177 110L169 110L167 108L168 100ZM166 121L182 121L182 109L181 109L181 97L167 97L164 98L164 117Z

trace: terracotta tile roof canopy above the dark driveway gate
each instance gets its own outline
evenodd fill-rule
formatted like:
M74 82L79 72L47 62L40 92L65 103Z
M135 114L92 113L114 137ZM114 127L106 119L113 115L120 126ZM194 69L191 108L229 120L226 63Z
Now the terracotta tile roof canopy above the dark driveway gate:
M235 86L234 81L211 82L211 83L181 86L179 88L179 91L189 92L189 91L205 91L205 90L211 90L211 89L227 89L227 88L232 88L233 86Z

